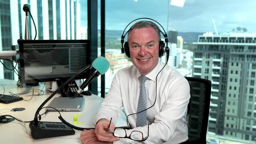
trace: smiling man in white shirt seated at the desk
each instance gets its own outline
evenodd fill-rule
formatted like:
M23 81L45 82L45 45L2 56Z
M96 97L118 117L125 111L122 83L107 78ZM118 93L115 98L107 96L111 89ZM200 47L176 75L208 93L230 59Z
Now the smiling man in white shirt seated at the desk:
M121 108L128 116L127 136L132 131L140 131L147 137L143 143L167 144L186 143L187 105L189 103L189 83L175 69L161 63L159 59L160 31L156 24L148 21L135 23L128 31L128 46L131 61L134 64L117 72L111 88L95 116L95 130L83 131L83 143L100 141L118 143L138 143L129 138L113 137L116 119L121 115ZM127 55L127 54L126 54ZM162 70L161 70L162 69ZM146 76L147 125L136 126L137 106L141 80ZM110 119L112 118L109 126ZM149 125L149 127L148 127ZM96 136L95 136L96 135Z

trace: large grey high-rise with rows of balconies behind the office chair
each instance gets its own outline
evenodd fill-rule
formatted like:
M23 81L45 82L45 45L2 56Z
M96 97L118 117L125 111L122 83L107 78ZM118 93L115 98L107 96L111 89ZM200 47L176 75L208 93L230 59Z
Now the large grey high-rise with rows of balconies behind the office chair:
M212 81L208 132L256 141L256 33L204 34L193 77Z

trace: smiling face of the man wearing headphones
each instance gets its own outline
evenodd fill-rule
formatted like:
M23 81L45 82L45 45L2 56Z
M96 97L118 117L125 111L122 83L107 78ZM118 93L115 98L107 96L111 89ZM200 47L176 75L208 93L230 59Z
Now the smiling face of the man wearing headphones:
M139 28L130 32L128 44L132 63L141 75L150 73L158 64L159 40L154 28Z

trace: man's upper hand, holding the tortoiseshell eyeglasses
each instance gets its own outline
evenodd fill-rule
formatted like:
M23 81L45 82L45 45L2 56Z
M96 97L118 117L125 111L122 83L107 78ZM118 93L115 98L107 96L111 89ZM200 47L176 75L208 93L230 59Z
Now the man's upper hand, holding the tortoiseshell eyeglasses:
M97 138L101 141L108 141L108 142L114 142L117 140L120 140L118 137L113 137L113 132L115 130L114 124L111 122L109 126L109 120L102 118L98 120L96 126L95 126L95 134ZM112 133L109 133L109 130Z

